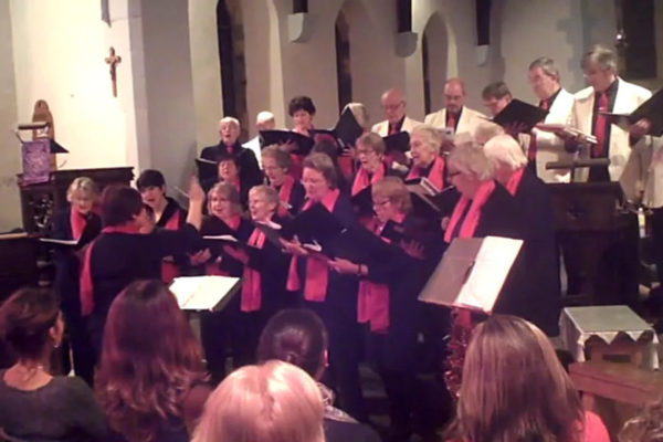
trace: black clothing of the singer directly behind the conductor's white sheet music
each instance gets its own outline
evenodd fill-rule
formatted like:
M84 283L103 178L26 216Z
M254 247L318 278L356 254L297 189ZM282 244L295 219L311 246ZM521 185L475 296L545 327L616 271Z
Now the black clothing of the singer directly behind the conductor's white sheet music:
M231 234L245 242L253 232L253 224L244 218L240 219L236 229L232 229L217 217L206 217L200 228L204 235ZM201 244L200 248L209 246ZM222 252L223 243L209 246L212 257L206 265L206 274L242 277L244 264ZM221 256L221 261L217 259ZM251 329L244 327L240 315L241 293L236 293L220 312L201 313L200 340L206 352L208 370L212 383L225 377L225 356L232 354L233 366L251 364L254 360L255 347L251 348Z

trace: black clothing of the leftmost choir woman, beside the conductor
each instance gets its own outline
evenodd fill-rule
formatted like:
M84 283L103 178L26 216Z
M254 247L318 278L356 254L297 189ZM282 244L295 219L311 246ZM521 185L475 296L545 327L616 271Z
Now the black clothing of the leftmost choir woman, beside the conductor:
M70 221L71 207L59 213L53 220L51 238L57 240L74 240ZM80 248L94 240L102 231L102 220L98 214L90 212L86 224L80 239ZM69 341L72 348L74 371L76 376L92 386L94 381L95 356L85 329L85 320L81 316L81 260L74 248L55 248L55 278L53 288L60 297L62 314L69 332ZM65 358L65 369L66 361Z

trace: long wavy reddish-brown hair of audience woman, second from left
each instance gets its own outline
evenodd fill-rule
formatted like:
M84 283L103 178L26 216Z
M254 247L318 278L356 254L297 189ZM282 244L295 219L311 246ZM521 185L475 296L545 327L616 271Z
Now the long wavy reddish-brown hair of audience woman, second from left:
M180 417L189 389L206 380L201 354L164 283L129 284L108 311L96 379L113 429L129 440L149 440L161 422Z

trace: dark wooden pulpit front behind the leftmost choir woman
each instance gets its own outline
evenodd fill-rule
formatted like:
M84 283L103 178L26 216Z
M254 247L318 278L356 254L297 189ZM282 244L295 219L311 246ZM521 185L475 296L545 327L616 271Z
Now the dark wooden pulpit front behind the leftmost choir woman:
M53 215L69 206L69 186L78 177L92 178L102 191L112 183L128 186L134 172L133 167L54 170L50 173L49 181L36 185L22 185L22 173L19 175L23 229L29 233L49 234Z

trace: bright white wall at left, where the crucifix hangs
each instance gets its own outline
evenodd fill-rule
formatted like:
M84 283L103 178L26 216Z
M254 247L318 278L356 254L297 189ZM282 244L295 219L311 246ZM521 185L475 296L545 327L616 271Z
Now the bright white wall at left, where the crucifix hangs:
M126 126L104 57L112 45L97 1L11 0L18 118L49 103L55 138L70 150L65 169L126 164ZM3 28L6 29L6 28ZM118 55L128 54L118 51ZM119 64L122 72L126 65ZM118 85L119 94L123 84Z

